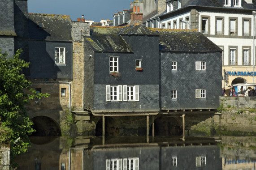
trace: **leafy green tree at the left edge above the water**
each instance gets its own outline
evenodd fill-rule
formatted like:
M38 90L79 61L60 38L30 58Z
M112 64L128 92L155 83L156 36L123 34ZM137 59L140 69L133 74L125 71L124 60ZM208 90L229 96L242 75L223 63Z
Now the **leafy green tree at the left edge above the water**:
M22 74L22 69L28 68L29 63L20 59L21 52L18 50L13 57L9 57L0 50L0 136L4 136L0 142L10 142L11 157L27 151L30 146L28 135L35 131L24 105L30 99L49 96L36 93L30 86L31 82Z

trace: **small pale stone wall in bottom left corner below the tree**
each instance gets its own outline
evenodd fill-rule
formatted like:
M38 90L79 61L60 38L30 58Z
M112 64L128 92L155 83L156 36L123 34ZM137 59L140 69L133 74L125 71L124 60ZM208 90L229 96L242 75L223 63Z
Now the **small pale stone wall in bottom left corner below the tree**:
M0 144L0 170L10 169L10 144Z

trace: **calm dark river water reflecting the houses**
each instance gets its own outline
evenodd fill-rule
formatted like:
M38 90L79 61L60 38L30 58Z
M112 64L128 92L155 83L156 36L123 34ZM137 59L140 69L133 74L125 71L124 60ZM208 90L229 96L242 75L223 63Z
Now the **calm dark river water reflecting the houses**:
M18 170L255 170L251 137L30 137Z

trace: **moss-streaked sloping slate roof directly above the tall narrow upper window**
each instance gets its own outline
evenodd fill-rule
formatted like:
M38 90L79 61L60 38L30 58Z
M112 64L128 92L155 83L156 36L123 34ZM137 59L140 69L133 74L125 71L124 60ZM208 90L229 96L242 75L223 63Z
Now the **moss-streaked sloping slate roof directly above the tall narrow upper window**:
M133 52L118 34L91 34L85 40L95 52Z

